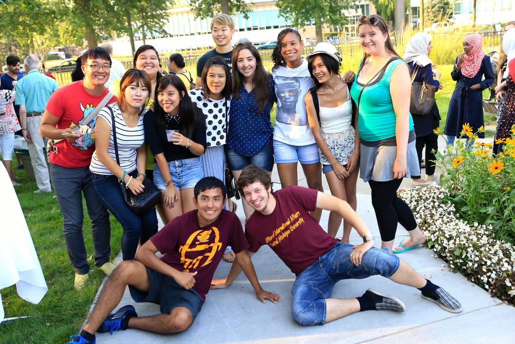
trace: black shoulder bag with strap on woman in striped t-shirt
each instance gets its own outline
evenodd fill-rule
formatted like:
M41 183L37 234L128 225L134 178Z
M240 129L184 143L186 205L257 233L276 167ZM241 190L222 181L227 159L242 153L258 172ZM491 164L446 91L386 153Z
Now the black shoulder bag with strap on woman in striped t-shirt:
M116 142L116 122L114 120L113 109L110 106L107 107L109 112L111 112L111 122L113 127L113 142L114 142L114 154L116 156L116 163L118 166L120 165L120 158L118 156L118 144ZM127 189L124 185L124 182L118 179L120 184L120 189L122 190L122 195L124 196L125 202L131 208L132 211L138 216L143 216L147 214L153 207L155 207L158 203L161 202L161 191L156 187L156 185L148 178L143 179L143 192L134 195L129 189Z

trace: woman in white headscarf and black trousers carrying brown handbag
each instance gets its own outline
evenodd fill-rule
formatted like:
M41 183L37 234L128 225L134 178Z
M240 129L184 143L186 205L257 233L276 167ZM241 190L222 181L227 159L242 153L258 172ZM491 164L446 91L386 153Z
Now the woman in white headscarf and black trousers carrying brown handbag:
M438 90L442 89L443 86L439 81L441 72L433 71L433 62L428 57L433 49L431 39L431 35L425 32L418 32L413 35L406 45L403 59L408 64L411 75L415 75L414 81L435 86ZM422 162L422 150L425 146L425 181L420 179L420 176L418 178L413 176L411 186L431 186L430 183L436 178L435 163L432 162L436 160L433 150L438 150L438 136L433 133L433 129L440 124L440 112L435 102L429 113L411 113L411 116L415 125L415 135L417 137L415 143L419 163Z

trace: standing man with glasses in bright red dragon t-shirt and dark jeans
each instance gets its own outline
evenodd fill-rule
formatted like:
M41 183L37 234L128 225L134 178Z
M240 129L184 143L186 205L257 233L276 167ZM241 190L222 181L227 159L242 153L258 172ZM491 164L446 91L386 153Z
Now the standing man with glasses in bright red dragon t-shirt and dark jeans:
M66 250L75 269L76 289L84 285L90 269L82 236L82 193L91 218L95 265L106 275L115 268L109 261L109 214L98 199L89 168L95 151L94 133L72 133L72 128L77 125L95 125L96 119L90 123L83 122L109 92L104 84L109 79L111 57L104 48L94 47L82 55L81 61L84 79L61 87L52 94L39 129L44 137L62 140L48 155L52 184L63 216ZM109 103L116 101L113 96Z

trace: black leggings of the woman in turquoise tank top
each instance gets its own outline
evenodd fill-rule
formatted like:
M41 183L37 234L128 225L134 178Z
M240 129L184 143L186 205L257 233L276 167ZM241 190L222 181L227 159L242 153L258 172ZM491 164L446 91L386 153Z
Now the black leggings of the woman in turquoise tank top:
M369 181L372 190L372 206L374 207L377 225L381 233L381 240L395 239L397 223L407 231L417 228L417 222L408 205L397 196L397 189L402 179L393 179L388 182Z

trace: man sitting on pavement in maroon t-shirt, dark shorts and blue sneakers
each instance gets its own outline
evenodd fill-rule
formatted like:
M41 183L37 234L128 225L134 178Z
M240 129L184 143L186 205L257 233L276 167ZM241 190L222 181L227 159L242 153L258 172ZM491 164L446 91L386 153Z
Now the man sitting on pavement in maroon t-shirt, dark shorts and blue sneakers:
M223 209L226 194L219 179L200 179L194 188L197 209L176 217L152 236L136 252L136 260L118 265L84 330L73 336L71 343L91 344L95 332L112 333L129 327L163 334L187 330L200 312L227 245L236 252L236 261L256 297L263 303L265 299L281 301L276 293L261 288L246 251L249 244L242 223L233 212ZM156 256L158 251L163 254L161 258ZM161 314L138 317L131 305L110 314L122 300L127 285L134 301L159 304Z

